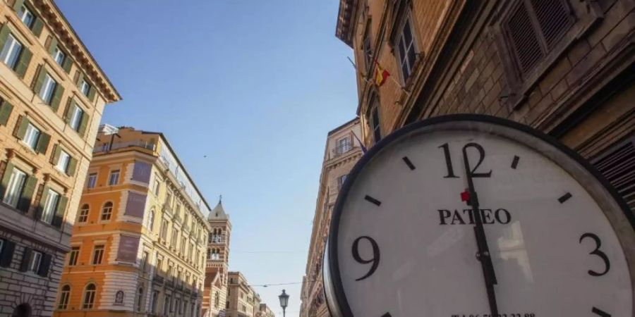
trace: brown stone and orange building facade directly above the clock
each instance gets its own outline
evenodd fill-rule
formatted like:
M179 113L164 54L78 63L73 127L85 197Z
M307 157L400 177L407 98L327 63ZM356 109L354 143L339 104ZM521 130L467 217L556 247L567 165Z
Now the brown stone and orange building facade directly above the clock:
M363 142L447 113L560 139L635 207L635 1L341 0ZM377 80L377 73L389 76Z

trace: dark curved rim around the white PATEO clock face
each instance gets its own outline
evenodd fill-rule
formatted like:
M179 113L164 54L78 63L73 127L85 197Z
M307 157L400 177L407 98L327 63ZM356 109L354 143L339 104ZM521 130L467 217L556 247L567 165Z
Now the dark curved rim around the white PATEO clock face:
M617 239L619 240L619 244L624 251L626 256L626 261L629 266L629 272L631 274L631 287L633 289L632 296L633 298L633 313L635 316L635 247L630 246L627 248L627 242L624 240L634 240L635 237L635 216L631 213L629 206L626 201L617 193L615 188L610 185L610 183L604 178L604 176L598 172L589 163L586 159L583 159L576 151L569 149L569 147L560 143L557 139L546 135L545 133L535 130L528 125L523 125L521 123L516 123L512 120L507 120L504 118L498 118L495 116L481 115L481 114L472 114L472 113L461 113L461 114L450 114L445 116L438 116L434 118L428 118L425 120L418 121L416 123L411 123L410 125L406 125L399 130L394 131L392 134L387 135L384 139L380 140L375 146L373 146L368 152L366 152L362 158L353 166L351 172L346 176L346 182L341 187L337 201L335 202L334 209L332 211L332 218L329 227L329 238L327 240L324 256L323 256L323 265L322 265L322 285L324 285L325 297L327 299L327 308L329 309L329 313L334 317L353 317L353 313L351 311L351 307L349 306L349 302L346 299L346 294L344 293L344 285L341 282L341 275L339 272L339 263L337 256L337 237L339 232L339 220L341 218L341 212L346 202L346 197L348 197L349 191L353 186L358 174L361 173L363 168L370 161L373 160L374 156L379 154L383 149L389 147L393 142L398 141L404 135L408 135L412 132L416 132L416 130L420 130L423 128L429 128L432 125L439 125L445 123L488 123L492 125L500 125L503 128L508 128L511 130L518 130L521 133L525 133L528 137L534 137L539 141L545 142L548 146L555 147L555 149L560 151L560 154L564 154L568 156L569 159L574 160L576 163L581 166L584 171L591 175L589 180L595 181L595 185L599 185L600 190L604 190L605 194L609 194L610 199L612 199L612 203L619 206L620 211L622 211L622 216L624 216L630 223L630 228L619 227L616 226L612 216L616 216L615 213L619 213L619 211L607 211L602 209L609 220L609 223L613 230L617 235ZM476 130L476 129L475 129ZM536 148L532 147L537 150ZM544 155L544 154L543 154ZM547 156L547 155L545 155ZM547 156L549 157L549 156ZM556 162L558 163L558 162ZM558 166L560 164L558 163ZM562 166L561 166L562 168ZM572 176L573 177L573 176ZM580 181L580 180L578 180ZM581 184L585 189L589 190L589 185ZM595 189L597 190L597 189ZM596 201L600 197L593 196L593 199ZM606 206L606 204L610 204L610 201L604 201L605 204L600 204L600 207ZM600 201L598 201L598 204ZM610 215L610 213L614 213L614 215ZM618 216L619 217L619 216ZM631 252L629 252L629 250Z

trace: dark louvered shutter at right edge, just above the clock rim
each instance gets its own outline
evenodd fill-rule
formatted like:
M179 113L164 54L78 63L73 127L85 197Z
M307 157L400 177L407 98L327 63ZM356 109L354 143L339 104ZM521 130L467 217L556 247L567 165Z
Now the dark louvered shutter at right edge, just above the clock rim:
M594 165L635 211L635 139L612 149Z

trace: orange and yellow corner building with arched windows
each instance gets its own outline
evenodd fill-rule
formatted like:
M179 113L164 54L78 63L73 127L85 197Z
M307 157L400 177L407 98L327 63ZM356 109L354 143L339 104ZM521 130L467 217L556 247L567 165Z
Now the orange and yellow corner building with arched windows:
M97 140L54 316L200 316L210 207L162 133Z

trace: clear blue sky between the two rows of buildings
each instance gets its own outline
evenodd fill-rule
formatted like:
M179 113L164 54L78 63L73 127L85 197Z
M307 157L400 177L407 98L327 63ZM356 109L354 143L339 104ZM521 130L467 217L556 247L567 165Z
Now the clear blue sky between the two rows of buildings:
M357 107L339 1L57 3L123 97L102 122L164 132L212 208L223 195L231 270L301 282L326 135ZM282 288L255 287L278 316Z

